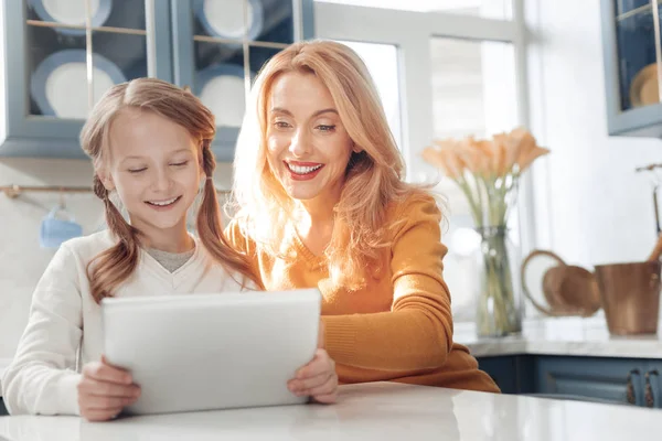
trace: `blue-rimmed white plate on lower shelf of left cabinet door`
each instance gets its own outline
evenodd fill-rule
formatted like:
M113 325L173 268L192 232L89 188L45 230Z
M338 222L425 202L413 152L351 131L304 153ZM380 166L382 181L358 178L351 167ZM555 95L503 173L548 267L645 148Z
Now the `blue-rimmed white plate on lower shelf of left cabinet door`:
M103 55L93 55L94 103L126 77L116 64ZM86 119L87 65L84 50L54 52L44 58L32 74L32 98L42 115L58 118Z

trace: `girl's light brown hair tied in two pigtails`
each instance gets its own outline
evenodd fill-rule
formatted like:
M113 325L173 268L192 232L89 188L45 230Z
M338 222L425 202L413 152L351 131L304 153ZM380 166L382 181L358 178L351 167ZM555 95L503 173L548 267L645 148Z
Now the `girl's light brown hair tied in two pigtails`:
M106 208L106 223L118 239L87 265L92 295L98 302L114 291L136 270L140 232L129 225L109 198L98 176L99 168L109 159L109 132L113 121L124 109L157 114L185 128L200 144L202 168L212 176L216 160L211 143L216 133L214 115L191 93L156 78L138 78L108 90L94 107L81 132L81 146L95 166L94 193ZM231 275L238 272L260 286L245 256L235 251L223 235L221 209L212 180L204 184L203 200L196 219L197 234L205 250Z

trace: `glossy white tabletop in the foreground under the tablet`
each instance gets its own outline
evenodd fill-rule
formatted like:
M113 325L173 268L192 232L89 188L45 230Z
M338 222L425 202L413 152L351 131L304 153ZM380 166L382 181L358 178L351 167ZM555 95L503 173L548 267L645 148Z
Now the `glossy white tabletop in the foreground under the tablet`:
M2 417L0 440L535 440L656 439L659 410L373 383L337 405L128 417ZM4 437L4 438L2 438Z

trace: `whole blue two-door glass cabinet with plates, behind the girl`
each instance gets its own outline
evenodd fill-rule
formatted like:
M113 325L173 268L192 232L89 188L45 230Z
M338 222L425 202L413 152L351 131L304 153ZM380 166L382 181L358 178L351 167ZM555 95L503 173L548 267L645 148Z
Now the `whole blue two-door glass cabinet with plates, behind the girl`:
M2 2L0 157L85 158L78 135L92 106L113 84L152 76L206 100L214 152L229 161L250 78L313 34L312 0L99 0L92 26L86 2L74 1L79 10Z

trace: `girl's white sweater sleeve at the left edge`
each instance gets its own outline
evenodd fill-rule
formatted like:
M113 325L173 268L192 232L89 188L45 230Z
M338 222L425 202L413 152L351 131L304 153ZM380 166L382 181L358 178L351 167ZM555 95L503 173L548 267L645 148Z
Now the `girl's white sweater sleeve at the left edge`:
M2 376L11 415L79 415L76 354L83 334L76 259L62 245L40 279L28 326Z

